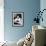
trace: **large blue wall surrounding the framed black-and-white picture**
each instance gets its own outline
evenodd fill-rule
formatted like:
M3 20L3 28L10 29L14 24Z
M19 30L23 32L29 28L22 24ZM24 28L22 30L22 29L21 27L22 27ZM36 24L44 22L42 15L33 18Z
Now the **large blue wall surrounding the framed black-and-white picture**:
M7 41L18 41L32 28L35 12L40 9L40 0L4 0L4 38ZM24 27L12 27L12 12L24 12Z

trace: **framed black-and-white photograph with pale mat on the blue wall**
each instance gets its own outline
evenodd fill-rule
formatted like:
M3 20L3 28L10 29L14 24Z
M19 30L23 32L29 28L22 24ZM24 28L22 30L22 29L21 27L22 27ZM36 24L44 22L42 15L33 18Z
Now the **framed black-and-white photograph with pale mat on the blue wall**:
M12 12L12 26L24 26L24 12Z

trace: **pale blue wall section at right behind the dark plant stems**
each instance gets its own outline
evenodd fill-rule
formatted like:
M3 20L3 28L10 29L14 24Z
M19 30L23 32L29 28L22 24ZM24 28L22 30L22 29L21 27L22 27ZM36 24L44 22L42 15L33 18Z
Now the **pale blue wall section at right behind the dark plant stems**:
M41 9L41 11L42 11L43 9L46 9L46 0L41 0L41 1L40 1L40 9ZM46 27L46 10L43 12L42 17L43 17L43 22L41 21L41 22L40 22L40 25Z

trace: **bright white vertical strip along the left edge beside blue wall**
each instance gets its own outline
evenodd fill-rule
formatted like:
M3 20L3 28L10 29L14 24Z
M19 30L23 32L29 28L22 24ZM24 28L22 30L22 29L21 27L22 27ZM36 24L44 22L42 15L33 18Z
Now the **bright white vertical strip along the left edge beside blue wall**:
M4 41L4 0L0 0L0 42Z

